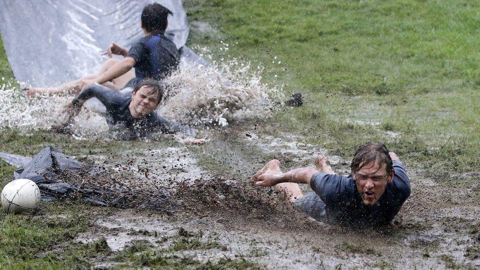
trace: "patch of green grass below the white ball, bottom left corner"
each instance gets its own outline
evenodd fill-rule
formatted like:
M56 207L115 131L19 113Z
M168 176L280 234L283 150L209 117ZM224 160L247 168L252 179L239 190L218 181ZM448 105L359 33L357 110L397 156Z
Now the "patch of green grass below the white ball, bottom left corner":
M85 205L69 203L43 203L36 214L1 212L0 268L90 267L89 259L103 251L97 243L83 245L73 239L91 226L97 215L94 212ZM64 248L57 250L57 245Z

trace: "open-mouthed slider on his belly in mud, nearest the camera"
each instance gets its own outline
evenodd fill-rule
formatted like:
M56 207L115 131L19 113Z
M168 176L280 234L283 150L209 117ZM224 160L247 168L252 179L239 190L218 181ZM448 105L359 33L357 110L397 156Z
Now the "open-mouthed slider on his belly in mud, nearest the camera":
M317 220L342 225L383 226L389 224L410 196L410 180L397 155L384 144L360 146L350 165L351 175L336 175L320 155L316 169L300 168L282 173L273 159L252 180L257 186L273 186ZM303 195L299 183L314 192Z

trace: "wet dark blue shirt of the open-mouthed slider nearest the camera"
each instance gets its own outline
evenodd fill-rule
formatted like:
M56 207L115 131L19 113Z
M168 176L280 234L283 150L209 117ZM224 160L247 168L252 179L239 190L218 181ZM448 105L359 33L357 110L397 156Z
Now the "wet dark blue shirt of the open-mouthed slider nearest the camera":
M312 176L310 185L325 203L328 221L359 226L389 224L410 196L410 180L400 161L393 160L395 175L385 192L373 206L363 204L356 182L350 175L343 177L324 172Z

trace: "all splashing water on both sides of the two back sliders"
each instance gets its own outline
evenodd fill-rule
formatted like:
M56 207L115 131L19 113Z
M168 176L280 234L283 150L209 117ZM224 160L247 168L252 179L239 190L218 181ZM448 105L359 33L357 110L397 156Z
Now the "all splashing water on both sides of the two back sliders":
M203 49L204 52L207 50ZM211 60L211 55L206 56ZM167 119L195 126L225 126L228 122L268 117L275 101L283 100L276 87L261 83L263 69L253 70L240 60L210 61L209 66L185 65L166 80L169 86L157 112ZM49 96L30 100L21 90L3 85L0 91L0 129L21 132L50 129L62 106L73 96ZM108 134L104 117L86 106L76 117L73 137ZM108 137L108 136L107 136Z

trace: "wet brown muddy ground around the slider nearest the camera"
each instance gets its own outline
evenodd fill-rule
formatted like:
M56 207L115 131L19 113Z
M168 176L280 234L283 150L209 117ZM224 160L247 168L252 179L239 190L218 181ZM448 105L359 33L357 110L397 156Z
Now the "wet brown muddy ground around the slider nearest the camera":
M287 170L313 166L318 153L328 155L339 174L347 174L348 156L329 155L299 136L264 134L255 126L246 122L210 131L203 146L164 140L108 158L81 156L123 172L125 185L146 186L151 194L155 187L165 188L175 207L162 211L145 203L111 208L76 240L105 238L114 255L100 257L98 267L115 267L115 254L139 243L201 262L241 258L253 262L246 265L253 268L480 267L479 194L478 183L469 182L472 176L459 176L465 184L453 186L406 163L412 195L393 225L380 230L336 227L311 220L272 189L253 187L248 179L271 158ZM172 248L179 240L198 244Z

